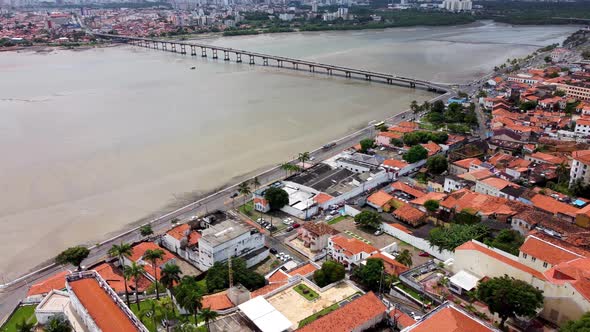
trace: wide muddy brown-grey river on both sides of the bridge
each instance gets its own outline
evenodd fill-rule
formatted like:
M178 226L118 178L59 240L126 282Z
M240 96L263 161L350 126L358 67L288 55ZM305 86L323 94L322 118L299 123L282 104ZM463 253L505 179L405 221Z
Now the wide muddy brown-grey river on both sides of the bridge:
M465 82L575 30L483 23L208 42ZM4 52L0 77L0 281L433 97L131 46Z

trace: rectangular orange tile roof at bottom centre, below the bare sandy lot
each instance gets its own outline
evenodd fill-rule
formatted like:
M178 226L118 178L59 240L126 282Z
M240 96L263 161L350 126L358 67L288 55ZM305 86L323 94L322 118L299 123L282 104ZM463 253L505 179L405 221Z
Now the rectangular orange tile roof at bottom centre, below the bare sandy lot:
M369 292L349 304L318 318L317 320L297 329L300 332L320 331L356 331L358 327L379 316L384 316L387 308Z

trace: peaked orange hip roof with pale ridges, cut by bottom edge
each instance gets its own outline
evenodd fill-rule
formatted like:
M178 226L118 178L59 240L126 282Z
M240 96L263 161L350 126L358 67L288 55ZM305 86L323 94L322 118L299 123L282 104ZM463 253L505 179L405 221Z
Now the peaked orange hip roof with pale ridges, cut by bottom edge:
M444 304L443 304L444 305ZM412 332L490 332L494 331L466 312L447 305L413 325Z

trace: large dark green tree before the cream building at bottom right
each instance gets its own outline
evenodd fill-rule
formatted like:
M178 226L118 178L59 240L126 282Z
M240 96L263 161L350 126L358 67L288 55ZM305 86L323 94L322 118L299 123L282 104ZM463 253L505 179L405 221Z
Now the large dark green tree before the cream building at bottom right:
M543 292L528 283L507 275L496 277L477 286L477 297L488 305L490 312L500 316L500 328L515 316L532 317L543 307Z

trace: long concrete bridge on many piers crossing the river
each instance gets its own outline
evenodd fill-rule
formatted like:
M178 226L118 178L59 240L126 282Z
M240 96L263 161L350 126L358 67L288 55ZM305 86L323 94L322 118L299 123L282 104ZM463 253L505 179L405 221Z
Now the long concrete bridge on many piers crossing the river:
M327 75L339 75L346 78L357 78L364 79L366 81L377 81L391 85L405 86L408 88L420 88L437 93L446 93L450 90L450 86L444 83L429 82L364 69L335 66L325 63L318 63L295 58L251 52L235 48L206 45L187 41L162 40L111 34L94 35L102 38L119 40L131 45L162 51L170 51L173 53L188 54L188 52L190 51L191 56L198 56L200 53L201 57L204 58L211 56L213 59L219 59L220 57L223 57L224 61L233 60L237 63L241 63L242 61L248 61L250 65L276 65L280 68L290 68L294 70L309 70L310 72L320 72L325 73Z

